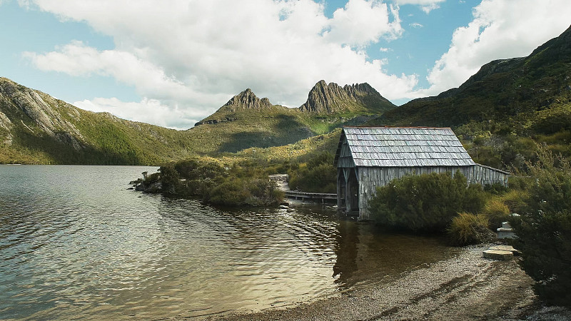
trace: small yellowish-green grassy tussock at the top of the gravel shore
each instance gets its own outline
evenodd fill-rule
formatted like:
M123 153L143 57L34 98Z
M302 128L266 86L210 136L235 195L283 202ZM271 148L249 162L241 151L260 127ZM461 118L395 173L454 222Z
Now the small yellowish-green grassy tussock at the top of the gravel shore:
M448 236L458 246L490 242L495 238L495 233L487 228L488 225L490 222L485 215L459 213L450 223Z

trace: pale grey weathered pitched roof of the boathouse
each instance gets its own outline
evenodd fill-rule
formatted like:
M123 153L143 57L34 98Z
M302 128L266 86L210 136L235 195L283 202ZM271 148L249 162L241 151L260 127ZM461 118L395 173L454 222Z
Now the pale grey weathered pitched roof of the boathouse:
M357 166L475 165L450 128L345 127L343 135Z

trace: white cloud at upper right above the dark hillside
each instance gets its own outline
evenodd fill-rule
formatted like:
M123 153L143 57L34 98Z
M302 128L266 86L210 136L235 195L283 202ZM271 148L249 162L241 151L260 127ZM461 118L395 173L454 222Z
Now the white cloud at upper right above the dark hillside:
M527 56L569 27L568 0L483 0L473 21L454 31L452 44L428 75L430 88L416 97L458 87L482 65L499 58Z

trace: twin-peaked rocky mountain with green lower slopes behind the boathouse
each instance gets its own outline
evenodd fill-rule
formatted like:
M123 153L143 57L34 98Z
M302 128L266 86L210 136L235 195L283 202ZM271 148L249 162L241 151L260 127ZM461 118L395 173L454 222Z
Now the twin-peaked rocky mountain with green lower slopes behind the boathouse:
M319 81L299 108L273 105L246 89L211 116L189 129L206 142L198 153L235 153L246 148L269 148L358 125L396 106L367 83L338 86Z

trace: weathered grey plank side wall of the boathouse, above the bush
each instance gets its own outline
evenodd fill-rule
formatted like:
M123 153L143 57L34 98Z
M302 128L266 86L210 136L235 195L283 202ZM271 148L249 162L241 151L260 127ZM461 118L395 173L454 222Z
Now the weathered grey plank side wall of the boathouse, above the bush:
M362 167L357 168L359 180L359 220L368 220L367 210L369 198L375 195L378 186L387 185L395 178L402 178L405 175L420 175L428 173L460 173L465 175L468 183L478 183L482 185L501 183L507 186L509 175L505 172L487 168L482 165L462 166L462 167Z

